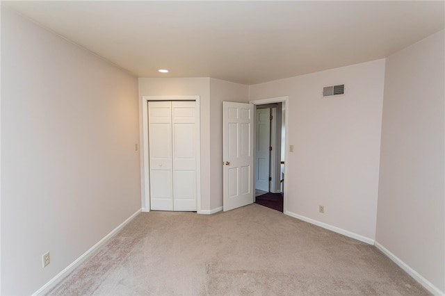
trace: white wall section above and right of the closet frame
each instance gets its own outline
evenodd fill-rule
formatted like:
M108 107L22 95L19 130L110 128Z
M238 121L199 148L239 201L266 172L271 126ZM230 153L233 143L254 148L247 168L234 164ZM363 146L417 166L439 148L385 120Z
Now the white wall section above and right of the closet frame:
M210 83L209 78L140 78L139 97L200 96L201 210L210 209Z

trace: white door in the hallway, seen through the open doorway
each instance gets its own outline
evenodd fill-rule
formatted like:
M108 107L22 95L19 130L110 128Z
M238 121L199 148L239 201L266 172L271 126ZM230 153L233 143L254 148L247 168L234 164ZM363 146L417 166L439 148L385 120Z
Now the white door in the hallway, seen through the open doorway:
M257 109L255 130L255 188L269 191L270 108Z

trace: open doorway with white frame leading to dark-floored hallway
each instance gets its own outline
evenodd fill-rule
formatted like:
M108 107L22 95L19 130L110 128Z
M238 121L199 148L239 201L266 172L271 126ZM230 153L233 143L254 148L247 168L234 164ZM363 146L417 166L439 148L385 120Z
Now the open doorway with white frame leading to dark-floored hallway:
M255 110L255 203L284 212L287 97L251 101Z

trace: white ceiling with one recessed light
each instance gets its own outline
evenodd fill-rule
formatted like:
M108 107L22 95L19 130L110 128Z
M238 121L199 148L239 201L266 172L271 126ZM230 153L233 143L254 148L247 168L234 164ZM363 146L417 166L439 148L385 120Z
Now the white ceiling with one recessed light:
M138 77L248 85L385 58L445 27L444 1L2 3Z

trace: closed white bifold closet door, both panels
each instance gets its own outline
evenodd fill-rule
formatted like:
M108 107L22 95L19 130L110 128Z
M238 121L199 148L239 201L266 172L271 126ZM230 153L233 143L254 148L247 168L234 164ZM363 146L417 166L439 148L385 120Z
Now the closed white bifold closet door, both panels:
M197 211L195 101L149 101L150 208Z

